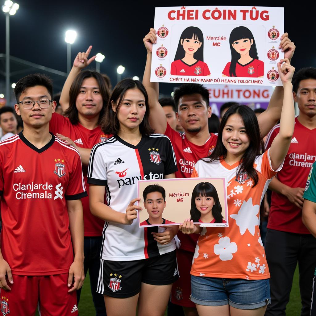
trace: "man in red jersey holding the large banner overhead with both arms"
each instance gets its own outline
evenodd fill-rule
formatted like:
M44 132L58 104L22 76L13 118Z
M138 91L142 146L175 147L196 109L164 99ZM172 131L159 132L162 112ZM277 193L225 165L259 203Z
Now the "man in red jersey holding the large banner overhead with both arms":
M211 116L208 90L200 84L184 84L175 90L174 100L177 106L177 118L185 133L180 135L167 124L164 112L158 102L159 87L157 82L150 82L150 67L152 44L157 40L156 31L150 29L144 38L147 49L147 62L143 84L149 95L150 124L156 133L166 134L173 145L178 164L177 178L191 177L195 163L210 155L216 145L217 135L210 134L208 118ZM285 33L281 37L280 48L284 51L284 58L291 60L295 46ZM261 134L265 136L272 126L280 119L283 102L283 87L276 87L271 96L268 109L258 117ZM188 237L190 236L190 237ZM177 251L179 275L173 284L171 301L184 307L185 315L197 315L191 295L191 263L198 237L194 234L178 233L181 246Z

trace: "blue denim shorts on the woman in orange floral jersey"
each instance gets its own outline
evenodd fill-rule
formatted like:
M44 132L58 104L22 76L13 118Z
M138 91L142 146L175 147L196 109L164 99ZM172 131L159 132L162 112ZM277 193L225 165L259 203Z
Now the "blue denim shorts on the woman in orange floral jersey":
M198 305L229 304L239 309L255 309L270 304L269 279L222 279L191 275L191 301Z

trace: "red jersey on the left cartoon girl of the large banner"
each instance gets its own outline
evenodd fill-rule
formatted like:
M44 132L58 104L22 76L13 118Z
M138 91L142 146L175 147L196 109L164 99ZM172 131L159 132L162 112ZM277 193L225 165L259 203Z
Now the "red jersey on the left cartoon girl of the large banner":
M170 73L174 76L208 76L211 74L209 67L203 61L197 60L196 63L188 65L181 59L171 63Z

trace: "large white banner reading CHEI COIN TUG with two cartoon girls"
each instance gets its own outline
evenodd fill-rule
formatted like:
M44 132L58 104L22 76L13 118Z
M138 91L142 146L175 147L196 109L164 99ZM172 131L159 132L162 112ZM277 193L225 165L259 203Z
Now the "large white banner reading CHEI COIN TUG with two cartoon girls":
M283 8L156 8L154 27L152 82L282 86Z

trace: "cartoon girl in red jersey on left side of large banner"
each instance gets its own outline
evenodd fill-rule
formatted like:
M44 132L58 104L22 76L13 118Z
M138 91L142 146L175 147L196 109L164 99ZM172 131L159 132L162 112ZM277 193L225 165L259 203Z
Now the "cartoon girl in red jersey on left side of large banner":
M198 27L187 27L181 34L178 49L171 63L174 76L210 76L203 58L204 37Z

